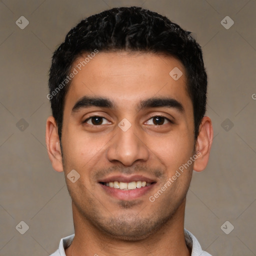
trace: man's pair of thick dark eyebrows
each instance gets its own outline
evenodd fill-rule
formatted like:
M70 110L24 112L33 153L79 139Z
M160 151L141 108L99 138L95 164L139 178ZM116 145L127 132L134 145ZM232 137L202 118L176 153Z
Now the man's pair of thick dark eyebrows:
M113 108L114 103L108 98L83 96L74 104L72 113L91 106ZM139 110L152 107L169 107L176 108L179 112L184 111L183 105L176 99L170 97L152 97L140 101Z

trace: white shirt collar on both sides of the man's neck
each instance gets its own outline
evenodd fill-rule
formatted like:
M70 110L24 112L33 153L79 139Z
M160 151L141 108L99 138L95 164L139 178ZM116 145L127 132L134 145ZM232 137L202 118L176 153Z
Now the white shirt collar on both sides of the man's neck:
M208 252L202 250L199 242L193 234L184 229L186 245L192 248L191 256L211 256ZM74 234L61 238L58 249L50 256L66 256L65 248L67 248L74 238Z

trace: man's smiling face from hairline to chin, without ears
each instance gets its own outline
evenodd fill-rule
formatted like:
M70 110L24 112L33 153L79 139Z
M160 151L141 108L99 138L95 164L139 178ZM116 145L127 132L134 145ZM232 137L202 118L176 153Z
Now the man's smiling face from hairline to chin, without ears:
M177 80L169 75L174 67L183 73ZM180 61L149 53L99 52L78 70L65 98L61 142L65 177L72 169L80 174L66 183L84 221L136 240L184 207L193 164L153 202L149 196L194 154L185 84Z

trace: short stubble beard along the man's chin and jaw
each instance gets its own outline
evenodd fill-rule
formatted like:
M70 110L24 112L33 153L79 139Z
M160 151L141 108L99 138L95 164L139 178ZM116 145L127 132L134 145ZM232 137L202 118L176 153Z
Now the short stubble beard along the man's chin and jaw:
M184 200L185 195L178 203L176 202L175 205L168 207L167 210L158 210L158 212L150 212L149 214L143 215L143 209L136 214L129 213L128 211L132 209L133 203L120 201L119 207L123 208L123 210L127 210L127 213L120 213L116 216L107 212L107 210L106 212L109 213L107 216L101 214L100 210L93 204L93 198L90 198L87 202L88 204L86 203L86 205L90 205L89 210L86 205L81 205L74 201L73 203L80 217L103 236L123 241L141 241L154 234L164 227L167 222L171 221L178 207ZM149 205L149 210L150 207L153 206ZM104 209L103 207L103 210Z

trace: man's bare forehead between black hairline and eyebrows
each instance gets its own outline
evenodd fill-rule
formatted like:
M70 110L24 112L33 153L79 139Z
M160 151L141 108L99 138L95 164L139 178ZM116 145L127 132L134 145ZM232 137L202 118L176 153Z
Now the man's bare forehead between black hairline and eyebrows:
M72 65L71 71L75 69L76 74L66 94L65 108L86 95L107 97L116 105L171 96L191 106L185 69L174 57L126 51L87 55L78 57Z

